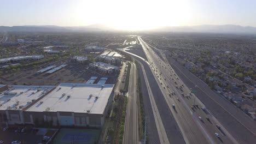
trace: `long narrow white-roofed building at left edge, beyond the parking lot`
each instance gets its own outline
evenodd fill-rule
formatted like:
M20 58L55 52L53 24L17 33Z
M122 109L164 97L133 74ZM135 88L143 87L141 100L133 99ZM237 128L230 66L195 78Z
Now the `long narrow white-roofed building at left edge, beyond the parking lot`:
M19 62L19 61L26 61L29 59L39 60L42 58L44 58L43 55L8 57L8 58L0 58L0 63Z

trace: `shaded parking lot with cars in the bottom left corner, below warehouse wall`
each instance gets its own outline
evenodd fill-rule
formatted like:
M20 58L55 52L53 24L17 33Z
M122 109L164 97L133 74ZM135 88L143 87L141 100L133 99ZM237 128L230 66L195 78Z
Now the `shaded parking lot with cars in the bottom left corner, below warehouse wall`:
M11 143L13 141L20 141L21 143L27 144L46 143L46 141L42 141L43 137L49 133L48 131L53 131L45 128L24 126L9 126L6 130L4 128L2 127L0 130L0 140L3 143Z

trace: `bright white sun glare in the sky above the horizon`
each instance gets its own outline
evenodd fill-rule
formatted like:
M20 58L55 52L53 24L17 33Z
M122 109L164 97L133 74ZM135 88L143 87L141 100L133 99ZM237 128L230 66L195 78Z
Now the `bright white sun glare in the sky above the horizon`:
M191 17L187 2L171 0L82 1L73 9L74 21L80 25L102 23L127 31L183 26Z

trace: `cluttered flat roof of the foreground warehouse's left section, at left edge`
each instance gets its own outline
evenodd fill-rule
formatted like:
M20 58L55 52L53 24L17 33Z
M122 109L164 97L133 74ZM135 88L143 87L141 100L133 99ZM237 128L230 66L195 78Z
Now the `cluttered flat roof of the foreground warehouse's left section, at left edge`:
M53 88L54 86L11 85L8 90L0 94L0 110L22 110Z

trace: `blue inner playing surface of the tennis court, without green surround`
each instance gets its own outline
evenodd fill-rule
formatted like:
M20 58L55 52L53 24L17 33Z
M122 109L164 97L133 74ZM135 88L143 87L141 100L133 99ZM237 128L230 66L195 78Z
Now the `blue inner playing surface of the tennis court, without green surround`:
M61 141L89 142L92 140L91 133L69 133L62 137Z

